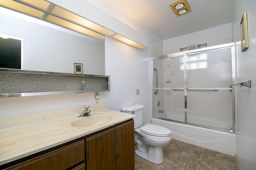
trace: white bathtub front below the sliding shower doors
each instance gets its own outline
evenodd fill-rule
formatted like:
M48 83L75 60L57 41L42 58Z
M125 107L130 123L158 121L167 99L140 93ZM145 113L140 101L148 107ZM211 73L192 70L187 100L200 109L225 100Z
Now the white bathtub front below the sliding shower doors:
M172 131L172 139L232 156L236 155L235 134L154 118L151 123L170 129Z

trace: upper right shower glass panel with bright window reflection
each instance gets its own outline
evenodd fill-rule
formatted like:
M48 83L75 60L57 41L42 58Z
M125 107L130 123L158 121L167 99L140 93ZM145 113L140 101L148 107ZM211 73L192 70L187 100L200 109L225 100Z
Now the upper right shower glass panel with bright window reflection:
M188 88L231 87L231 50L220 49L188 55L187 75Z

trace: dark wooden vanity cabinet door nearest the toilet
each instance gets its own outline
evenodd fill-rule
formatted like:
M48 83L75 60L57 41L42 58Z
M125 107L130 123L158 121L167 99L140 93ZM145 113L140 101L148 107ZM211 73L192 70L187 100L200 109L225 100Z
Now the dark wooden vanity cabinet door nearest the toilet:
M116 170L134 170L134 121L116 126Z

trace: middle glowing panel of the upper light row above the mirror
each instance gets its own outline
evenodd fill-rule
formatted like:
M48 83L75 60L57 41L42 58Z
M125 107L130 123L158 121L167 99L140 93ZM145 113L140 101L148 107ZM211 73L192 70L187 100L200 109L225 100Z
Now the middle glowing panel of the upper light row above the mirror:
M81 16L78 16L68 10L65 10L63 8L60 8L59 6L55 6L51 12L52 14L57 14L61 18L68 19L70 21L74 21L75 23L87 27L89 29L93 29L94 31L97 31L99 33L102 33L107 36L114 35L113 31L110 31L109 29L106 29L105 27L102 27L92 21L89 21Z

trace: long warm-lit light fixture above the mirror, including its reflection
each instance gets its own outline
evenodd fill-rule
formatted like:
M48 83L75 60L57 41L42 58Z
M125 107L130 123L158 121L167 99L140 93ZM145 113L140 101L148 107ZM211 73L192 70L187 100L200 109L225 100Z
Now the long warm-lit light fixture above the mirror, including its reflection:
M146 47L47 0L0 0L0 6L55 23L96 39L104 40L104 36L108 36L137 49Z

